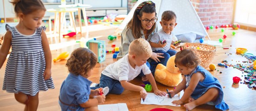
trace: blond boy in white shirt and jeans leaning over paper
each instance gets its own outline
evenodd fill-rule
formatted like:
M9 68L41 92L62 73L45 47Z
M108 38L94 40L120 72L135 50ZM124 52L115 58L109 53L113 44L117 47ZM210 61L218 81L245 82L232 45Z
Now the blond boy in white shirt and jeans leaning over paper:
M124 89L128 89L140 92L141 98L145 99L147 96L146 90L141 86L129 83L129 81L137 77L142 70L143 74L146 75L151 83L154 93L156 95L165 96L165 92L157 89L154 76L146 65L151 55L152 49L148 41L143 38L134 40L129 45L128 54L117 62L108 65L101 73L100 84L91 87L91 89L108 86L109 93L113 94L121 94Z

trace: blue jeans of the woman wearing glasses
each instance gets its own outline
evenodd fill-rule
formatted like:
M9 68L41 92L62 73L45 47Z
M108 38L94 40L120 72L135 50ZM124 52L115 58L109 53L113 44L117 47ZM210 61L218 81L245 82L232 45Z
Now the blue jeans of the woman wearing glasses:
M166 66L167 61L169 60L169 58L171 56L174 56L177 53L177 51L175 51L175 50L168 50L167 52L165 52L163 50L155 50L153 52L163 53L163 55L160 55L160 56L164 57L164 58L160 58L160 57L158 58L160 60L160 62L155 62L154 60L151 59L150 70L151 70L153 75L155 75L155 68L156 68L157 64L161 63L162 65Z

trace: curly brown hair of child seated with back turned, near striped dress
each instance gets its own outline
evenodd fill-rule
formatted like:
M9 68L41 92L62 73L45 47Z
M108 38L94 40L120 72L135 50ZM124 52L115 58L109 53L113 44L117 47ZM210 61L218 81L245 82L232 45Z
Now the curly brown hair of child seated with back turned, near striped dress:
M67 60L68 71L75 75L86 75L97 63L95 54L87 48L75 49Z

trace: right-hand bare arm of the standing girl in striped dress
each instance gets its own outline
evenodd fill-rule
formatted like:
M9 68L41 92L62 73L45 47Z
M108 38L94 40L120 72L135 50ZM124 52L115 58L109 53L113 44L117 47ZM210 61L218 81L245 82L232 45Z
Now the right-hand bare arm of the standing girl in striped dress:
M45 62L46 62L45 71L44 71L44 79L48 80L48 79L50 79L50 77L52 75L52 73L51 73L52 54L51 54L49 43L48 43L48 40L47 40L44 30L42 30L41 37L42 37L42 46L43 46Z

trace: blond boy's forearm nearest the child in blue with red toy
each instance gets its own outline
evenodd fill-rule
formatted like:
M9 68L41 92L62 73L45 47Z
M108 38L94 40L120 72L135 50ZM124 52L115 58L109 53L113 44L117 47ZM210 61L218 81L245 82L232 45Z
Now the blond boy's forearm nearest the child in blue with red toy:
M141 98L142 99L146 98L148 93L146 92L146 90L143 87L134 85L132 83L129 83L127 80L121 80L120 82L121 82L121 85L122 85L123 88L128 89L128 90L132 90L132 91L135 91L135 92L140 92L141 93Z

